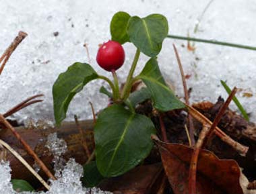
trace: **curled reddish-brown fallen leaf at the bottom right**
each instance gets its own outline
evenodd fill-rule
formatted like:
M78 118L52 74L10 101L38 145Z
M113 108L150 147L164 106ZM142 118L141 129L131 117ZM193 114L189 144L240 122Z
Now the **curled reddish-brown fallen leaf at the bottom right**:
M175 194L189 193L189 164L193 148L159 142L164 170ZM201 150L197 162L197 193L243 193L241 172L235 160L220 160L212 152Z

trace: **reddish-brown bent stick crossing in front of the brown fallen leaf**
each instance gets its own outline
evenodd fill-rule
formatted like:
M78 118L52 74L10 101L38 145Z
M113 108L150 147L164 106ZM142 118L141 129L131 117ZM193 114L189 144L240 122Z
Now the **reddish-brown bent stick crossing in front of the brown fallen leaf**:
M205 146L208 140L210 140L210 136L212 136L212 134L214 133L218 123L220 122L220 119L222 118L226 109L228 108L228 105L232 101L232 98L234 97L236 90L236 87L234 87L234 89L228 96L228 99L226 99L224 105L222 105L220 111L218 111L218 114L216 115L214 122L212 123L212 126L203 126L203 130L201 130L201 133L199 134L197 144L195 144L195 149L191 156L191 163L189 168L189 193L191 194L196 193L197 160L199 152Z

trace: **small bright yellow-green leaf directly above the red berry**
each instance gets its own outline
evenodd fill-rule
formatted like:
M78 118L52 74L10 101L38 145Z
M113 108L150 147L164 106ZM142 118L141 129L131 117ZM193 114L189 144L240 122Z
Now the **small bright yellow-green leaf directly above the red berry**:
M130 15L124 11L115 13L110 23L110 33L112 40L124 44L129 42L129 36L127 35L127 23L130 19Z

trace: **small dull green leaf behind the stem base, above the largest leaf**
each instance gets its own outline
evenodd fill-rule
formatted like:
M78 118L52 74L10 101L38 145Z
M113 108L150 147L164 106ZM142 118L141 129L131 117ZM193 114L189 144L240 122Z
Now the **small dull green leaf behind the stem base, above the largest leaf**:
M139 91L135 91L130 94L127 99L127 103L129 103L132 107L135 107L138 103L142 103L147 99L151 98L151 93L147 88L142 88Z

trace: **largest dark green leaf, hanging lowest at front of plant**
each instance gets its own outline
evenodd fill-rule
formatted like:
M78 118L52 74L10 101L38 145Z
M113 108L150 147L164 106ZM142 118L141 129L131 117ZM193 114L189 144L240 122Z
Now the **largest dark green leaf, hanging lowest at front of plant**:
M98 116L94 139L96 162L104 177L116 177L131 170L152 149L152 121L133 113L122 105L112 105Z

